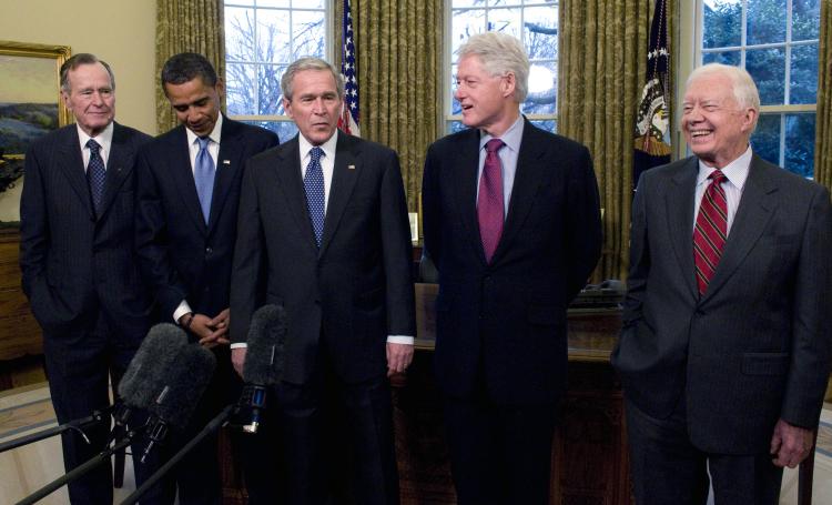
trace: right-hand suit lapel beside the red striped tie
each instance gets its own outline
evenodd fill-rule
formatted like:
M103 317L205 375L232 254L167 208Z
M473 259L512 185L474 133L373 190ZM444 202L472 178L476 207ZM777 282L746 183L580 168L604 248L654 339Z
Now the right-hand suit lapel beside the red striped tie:
M737 209L737 215L728 233L726 249L713 273L713 279L702 296L702 302L712 297L728 282L760 239L773 215L775 205L771 196L778 188L768 176L770 170L780 169L767 166L760 158L753 155L745 186L742 189L740 206Z

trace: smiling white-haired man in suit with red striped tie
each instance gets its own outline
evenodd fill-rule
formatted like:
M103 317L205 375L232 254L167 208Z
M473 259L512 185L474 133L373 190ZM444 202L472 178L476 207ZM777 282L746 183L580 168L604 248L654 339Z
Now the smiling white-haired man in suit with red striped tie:
M698 68L681 127L693 156L645 172L623 329L639 504L773 505L811 451L829 377L829 191L754 154L743 69Z

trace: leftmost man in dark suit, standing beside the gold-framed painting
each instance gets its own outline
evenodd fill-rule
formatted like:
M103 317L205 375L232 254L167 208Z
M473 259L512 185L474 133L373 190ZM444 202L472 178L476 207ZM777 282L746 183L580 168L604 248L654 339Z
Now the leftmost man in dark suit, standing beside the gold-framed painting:
M20 200L23 292L43 329L47 376L59 423L110 405L108 381L125 371L146 334L150 297L133 252L134 160L150 137L113 122L110 67L80 53L61 67L61 97L75 124L49 133L26 155ZM103 451L110 416L62 436L69 472ZM141 482L140 463L135 462ZM69 485L75 504L112 503L102 465Z

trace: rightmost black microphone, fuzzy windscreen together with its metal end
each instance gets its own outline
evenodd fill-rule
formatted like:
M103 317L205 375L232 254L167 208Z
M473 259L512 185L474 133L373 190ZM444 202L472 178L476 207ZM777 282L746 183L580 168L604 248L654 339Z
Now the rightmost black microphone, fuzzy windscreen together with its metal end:
M243 392L231 425L245 433L257 433L266 407L268 386L283 377L286 342L286 311L281 305L263 305L252 315L248 329Z

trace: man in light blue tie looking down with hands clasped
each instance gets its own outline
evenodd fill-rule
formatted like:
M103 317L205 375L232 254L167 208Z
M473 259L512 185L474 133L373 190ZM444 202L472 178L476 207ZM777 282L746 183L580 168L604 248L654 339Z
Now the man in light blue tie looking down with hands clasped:
M135 236L162 321L180 324L217 354L217 372L191 422L192 436L233 398L239 382L227 331L240 184L248 158L278 141L220 112L223 83L201 54L171 57L162 87L182 124L139 155ZM201 444L174 474L180 503L220 503L216 437Z

